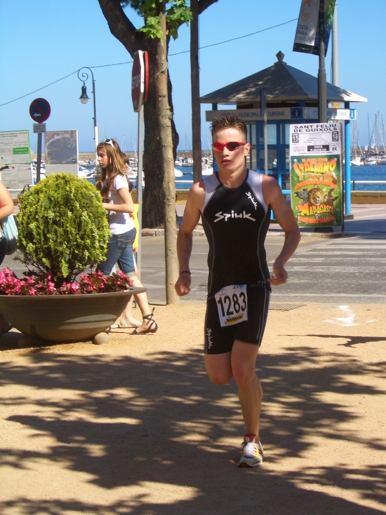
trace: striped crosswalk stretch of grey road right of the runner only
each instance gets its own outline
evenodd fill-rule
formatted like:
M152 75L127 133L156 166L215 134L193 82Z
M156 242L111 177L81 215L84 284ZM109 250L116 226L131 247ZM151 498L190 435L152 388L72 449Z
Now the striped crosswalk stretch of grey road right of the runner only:
M386 239L348 237L300 245L288 263L289 281L273 301L386 302Z

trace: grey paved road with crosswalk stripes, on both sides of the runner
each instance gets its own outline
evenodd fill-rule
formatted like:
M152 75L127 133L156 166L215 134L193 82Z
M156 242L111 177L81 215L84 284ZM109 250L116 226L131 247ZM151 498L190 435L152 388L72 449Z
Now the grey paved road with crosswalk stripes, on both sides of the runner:
M164 242L143 238L142 281L151 302L164 303ZM268 236L267 259L272 264L283 237ZM205 300L208 245L195 237L190 269L191 292L183 300ZM274 288L275 302L386 303L386 238L365 235L326 239L303 237L288 262L289 281Z

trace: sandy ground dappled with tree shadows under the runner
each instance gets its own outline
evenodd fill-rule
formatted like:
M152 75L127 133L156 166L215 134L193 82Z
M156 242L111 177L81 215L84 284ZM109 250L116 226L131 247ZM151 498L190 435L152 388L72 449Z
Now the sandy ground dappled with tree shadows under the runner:
M205 375L204 308L108 345L1 338L2 515L386 512L385 305L270 311L257 469L235 465L235 383Z

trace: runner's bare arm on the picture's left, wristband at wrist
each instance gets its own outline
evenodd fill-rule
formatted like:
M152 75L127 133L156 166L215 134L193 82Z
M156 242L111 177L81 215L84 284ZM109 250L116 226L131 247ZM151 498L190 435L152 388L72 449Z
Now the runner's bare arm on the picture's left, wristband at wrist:
M180 265L180 276L174 287L180 297L187 295L190 291L190 273L187 272L189 272L190 254L193 245L192 234L200 220L204 199L205 190L202 181L200 181L190 188L184 210L184 217L177 236L177 255Z

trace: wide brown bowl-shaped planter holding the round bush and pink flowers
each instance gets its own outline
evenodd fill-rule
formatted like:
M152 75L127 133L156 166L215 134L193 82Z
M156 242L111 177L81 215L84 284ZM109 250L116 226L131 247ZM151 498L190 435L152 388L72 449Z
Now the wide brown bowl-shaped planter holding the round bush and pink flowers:
M146 288L82 295L0 295L0 313L26 336L47 341L92 339L122 313L132 294Z

